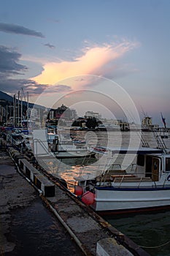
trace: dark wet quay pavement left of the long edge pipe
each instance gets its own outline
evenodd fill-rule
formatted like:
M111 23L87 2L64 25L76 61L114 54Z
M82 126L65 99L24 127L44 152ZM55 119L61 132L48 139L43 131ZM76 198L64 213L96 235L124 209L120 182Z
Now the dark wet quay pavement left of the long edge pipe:
M39 193L18 173L9 155L2 151L0 255L84 255L61 222L47 211Z

